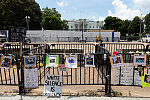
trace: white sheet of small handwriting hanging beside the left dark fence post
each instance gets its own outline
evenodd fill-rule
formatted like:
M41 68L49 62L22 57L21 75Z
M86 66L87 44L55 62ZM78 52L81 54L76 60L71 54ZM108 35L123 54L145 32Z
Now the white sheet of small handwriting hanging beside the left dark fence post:
M38 88L37 68L24 68L24 87L28 89Z

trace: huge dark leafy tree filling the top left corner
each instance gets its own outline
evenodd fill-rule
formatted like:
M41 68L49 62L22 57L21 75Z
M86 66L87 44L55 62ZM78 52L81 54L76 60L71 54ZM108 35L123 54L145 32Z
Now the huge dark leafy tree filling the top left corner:
M25 16L30 16L30 29L41 29L41 10L35 0L2 0L0 2L1 29L9 26L27 27Z

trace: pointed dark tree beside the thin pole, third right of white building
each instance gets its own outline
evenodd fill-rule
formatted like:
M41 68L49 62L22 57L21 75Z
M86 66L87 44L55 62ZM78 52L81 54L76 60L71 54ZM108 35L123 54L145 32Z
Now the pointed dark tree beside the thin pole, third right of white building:
M141 23L141 19L138 16L134 17L134 19L132 20L129 26L130 35L132 34L133 36L139 36L140 23ZM144 28L143 23L141 23L141 33L143 32L143 28Z

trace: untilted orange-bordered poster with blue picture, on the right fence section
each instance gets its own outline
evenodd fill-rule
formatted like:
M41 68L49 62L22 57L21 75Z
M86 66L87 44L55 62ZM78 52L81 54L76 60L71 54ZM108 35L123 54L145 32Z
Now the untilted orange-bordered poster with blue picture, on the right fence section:
M146 54L144 54L144 55L134 54L133 66L138 66L138 65L146 66L146 60L147 60Z

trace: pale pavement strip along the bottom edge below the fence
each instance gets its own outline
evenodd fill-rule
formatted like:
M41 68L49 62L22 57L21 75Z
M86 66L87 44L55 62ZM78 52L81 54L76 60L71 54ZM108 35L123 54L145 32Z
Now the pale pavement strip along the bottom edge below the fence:
M62 96L58 98L47 96L22 96L2 95L0 100L150 100L150 98L128 98L128 97L85 97L85 96Z

